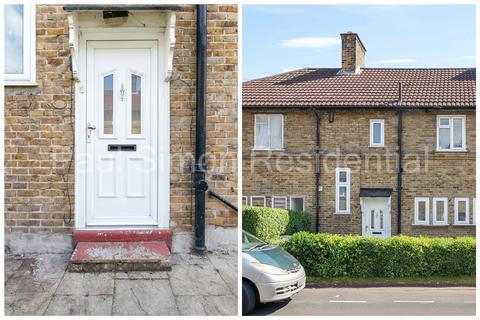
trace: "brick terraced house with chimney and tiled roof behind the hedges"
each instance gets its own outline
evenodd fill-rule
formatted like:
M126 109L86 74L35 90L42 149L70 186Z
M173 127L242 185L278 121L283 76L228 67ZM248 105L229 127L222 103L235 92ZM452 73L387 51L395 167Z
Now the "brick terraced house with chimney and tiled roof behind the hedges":
M243 205L305 210L317 232L475 235L475 69L342 68L247 81Z

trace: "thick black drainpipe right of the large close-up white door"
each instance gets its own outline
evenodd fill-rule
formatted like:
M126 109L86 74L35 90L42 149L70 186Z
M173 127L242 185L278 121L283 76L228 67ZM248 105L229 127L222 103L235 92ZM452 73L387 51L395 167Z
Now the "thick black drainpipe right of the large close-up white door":
M196 83L196 127L195 127L195 251L204 253L205 247L205 180L207 146L206 112L206 48L207 48L207 5L197 5L197 83Z

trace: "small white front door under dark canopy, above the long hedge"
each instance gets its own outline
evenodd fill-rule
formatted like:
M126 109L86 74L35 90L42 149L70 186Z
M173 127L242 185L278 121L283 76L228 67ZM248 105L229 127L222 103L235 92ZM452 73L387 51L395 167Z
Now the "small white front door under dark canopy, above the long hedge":
M362 235L386 238L391 236L389 198L362 199Z

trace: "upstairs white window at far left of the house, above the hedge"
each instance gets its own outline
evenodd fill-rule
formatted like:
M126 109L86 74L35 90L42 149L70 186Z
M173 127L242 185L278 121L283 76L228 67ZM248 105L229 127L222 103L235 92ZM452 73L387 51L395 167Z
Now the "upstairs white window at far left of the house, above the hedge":
M254 144L256 150L283 149L283 115L256 114Z

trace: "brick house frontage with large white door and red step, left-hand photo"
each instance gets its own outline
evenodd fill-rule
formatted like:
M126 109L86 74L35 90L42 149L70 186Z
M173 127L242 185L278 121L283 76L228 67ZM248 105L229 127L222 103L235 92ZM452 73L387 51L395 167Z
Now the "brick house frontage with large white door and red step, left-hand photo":
M120 259L93 265L107 269L236 250L237 6L26 2L5 16L7 250L77 245L74 264L108 242Z

